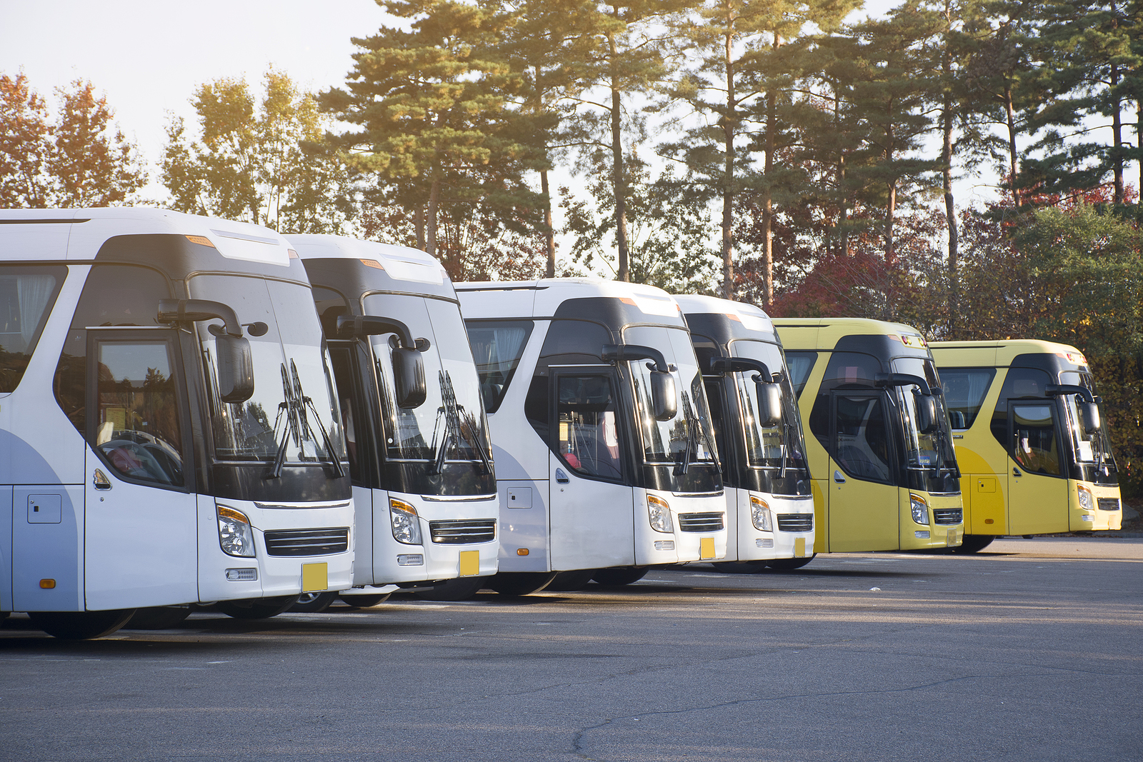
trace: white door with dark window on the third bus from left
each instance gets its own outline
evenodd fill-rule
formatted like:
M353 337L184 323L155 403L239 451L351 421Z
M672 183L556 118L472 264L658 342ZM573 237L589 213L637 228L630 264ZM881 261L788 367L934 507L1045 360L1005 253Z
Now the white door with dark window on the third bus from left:
M609 367L593 370L552 374L549 506L551 568L559 571L636 562L634 490L623 483L615 382Z

